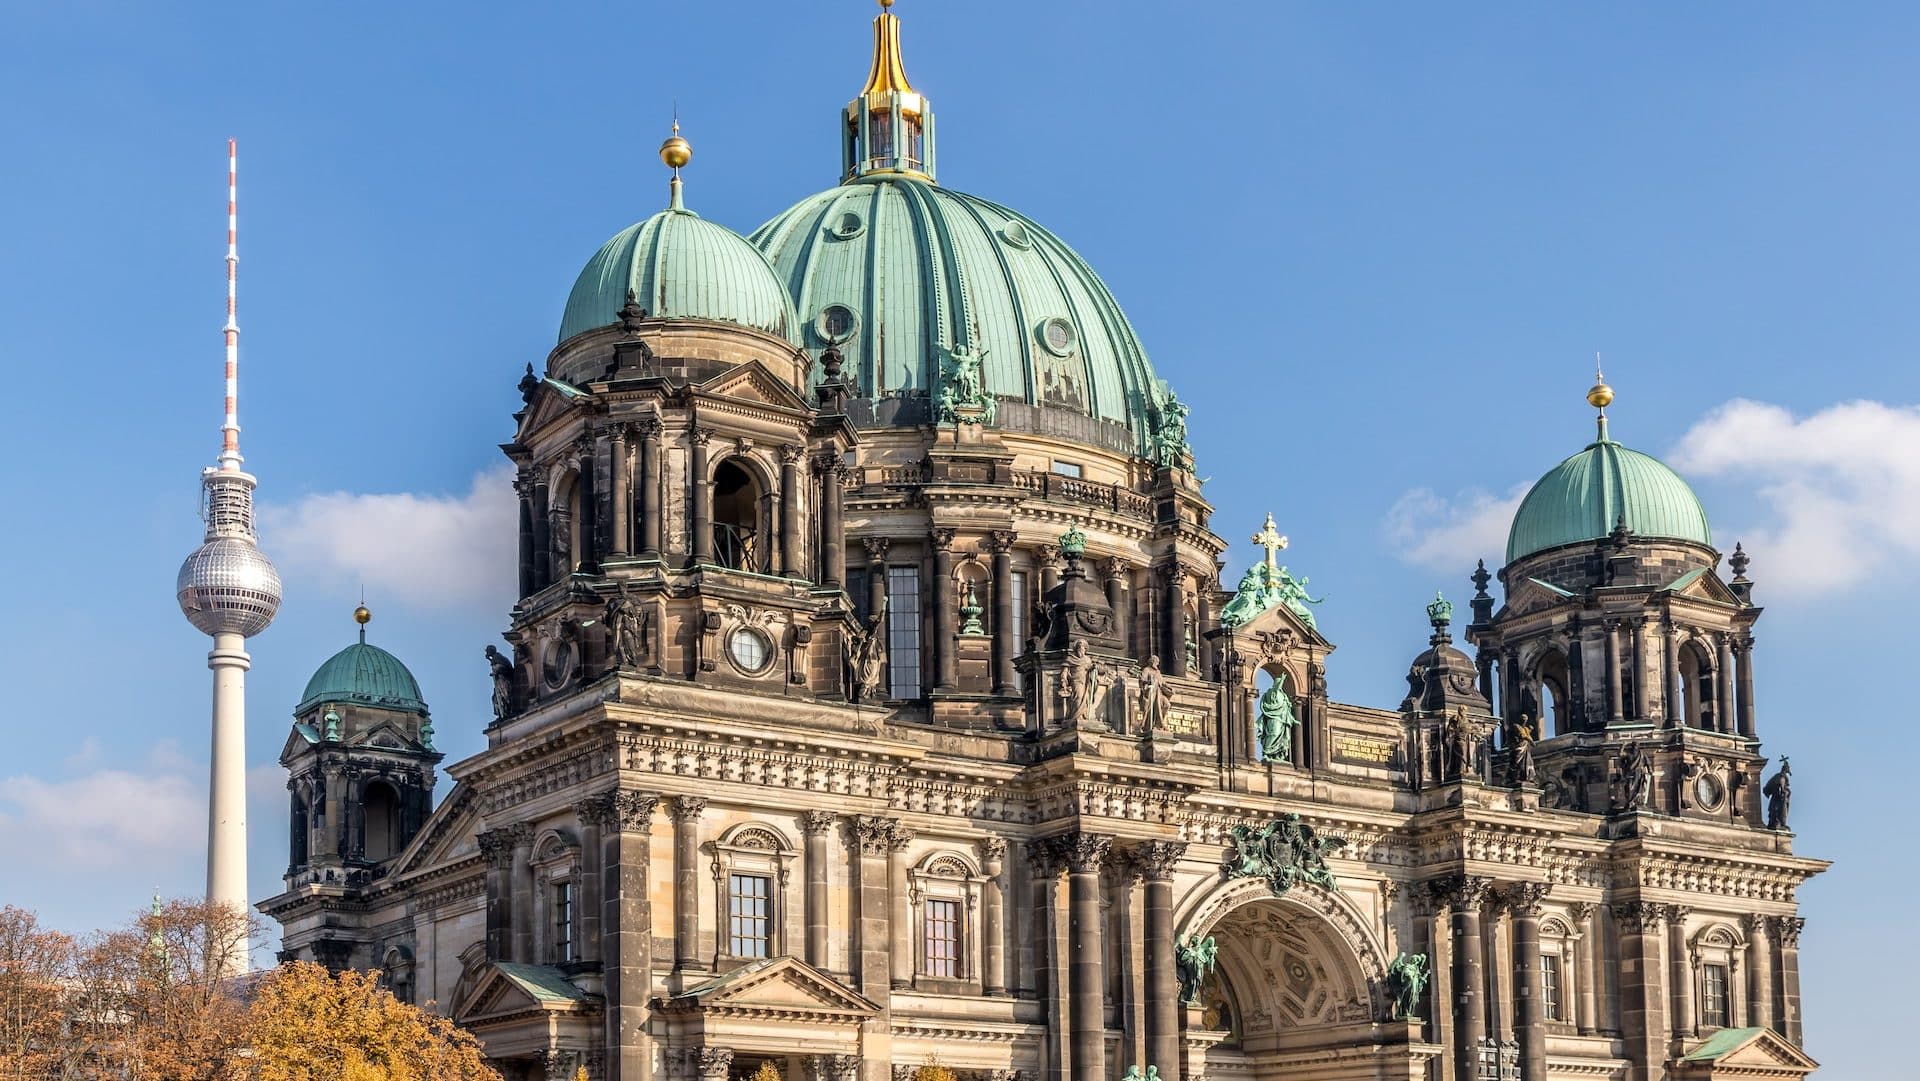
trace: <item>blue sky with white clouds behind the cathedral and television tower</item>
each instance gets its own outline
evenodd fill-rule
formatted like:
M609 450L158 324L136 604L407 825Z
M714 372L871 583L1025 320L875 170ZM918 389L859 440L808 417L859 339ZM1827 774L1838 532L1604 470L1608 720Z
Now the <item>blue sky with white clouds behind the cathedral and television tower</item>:
M1920 10L1901 4L920 4L943 182L1046 223L1194 407L1233 540L1273 511L1336 697L1394 705L1434 588L1590 434L1753 555L1789 753L1809 1048L1893 1077L1914 845ZM311 670L399 653L480 747L513 565L495 444L574 273L666 198L751 230L835 180L870 8L0 6L4 901L113 922L200 887L205 639L173 603L217 451L225 138L242 148L242 447L286 572L253 643L253 891ZM1235 553L1235 568L1254 557ZM1884 762L1884 766L1872 766Z

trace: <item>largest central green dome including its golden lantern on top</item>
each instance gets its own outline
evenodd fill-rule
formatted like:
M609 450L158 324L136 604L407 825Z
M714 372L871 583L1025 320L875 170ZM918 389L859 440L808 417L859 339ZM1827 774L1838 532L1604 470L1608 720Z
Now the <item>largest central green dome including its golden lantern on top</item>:
M906 83L889 12L874 19L874 65L843 119L843 182L751 238L793 298L799 344L816 357L839 346L872 401L860 424L931 422L941 365L970 349L985 353L1000 426L1148 453L1169 392L1125 313L1048 228L935 184L933 108Z

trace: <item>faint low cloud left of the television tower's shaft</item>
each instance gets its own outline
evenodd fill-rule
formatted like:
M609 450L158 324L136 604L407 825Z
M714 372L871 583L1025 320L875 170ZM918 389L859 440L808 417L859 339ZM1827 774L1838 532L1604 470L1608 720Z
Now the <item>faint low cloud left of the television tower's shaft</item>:
M0 862L13 870L165 866L205 839L205 789L182 774L0 778Z

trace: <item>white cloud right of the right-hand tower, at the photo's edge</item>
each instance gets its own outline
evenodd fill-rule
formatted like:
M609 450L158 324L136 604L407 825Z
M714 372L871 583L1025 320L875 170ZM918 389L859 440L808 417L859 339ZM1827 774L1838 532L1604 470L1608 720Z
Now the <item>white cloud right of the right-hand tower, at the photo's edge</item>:
M1920 407L1843 401L1793 417L1736 399L1695 422L1670 461L1738 480L1768 507L1770 520L1738 538L1780 570L1768 589L1843 588L1920 555Z

